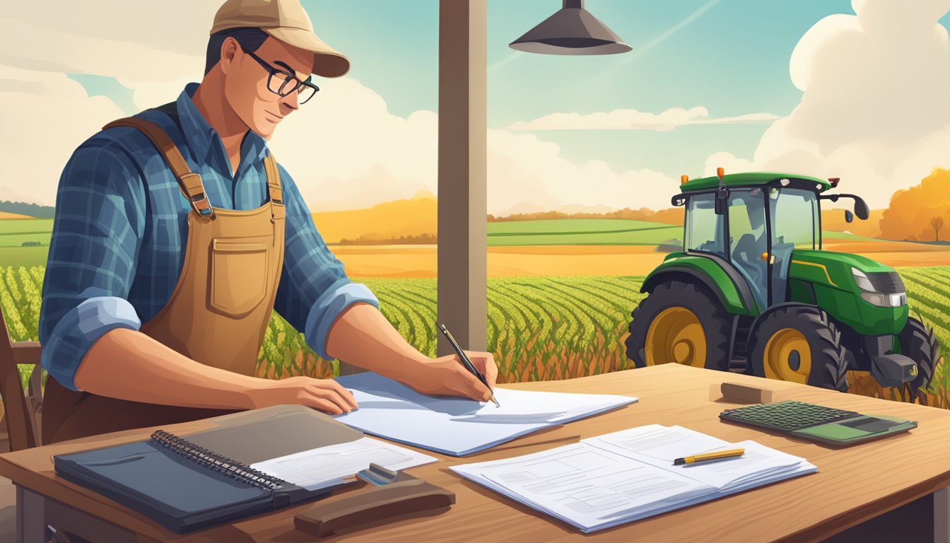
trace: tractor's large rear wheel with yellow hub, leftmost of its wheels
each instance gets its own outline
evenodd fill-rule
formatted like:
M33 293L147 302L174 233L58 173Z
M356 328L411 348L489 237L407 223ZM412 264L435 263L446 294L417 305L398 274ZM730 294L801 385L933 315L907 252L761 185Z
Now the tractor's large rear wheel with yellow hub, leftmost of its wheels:
M638 368L675 362L728 369L732 319L705 286L682 281L658 284L631 317L627 357Z

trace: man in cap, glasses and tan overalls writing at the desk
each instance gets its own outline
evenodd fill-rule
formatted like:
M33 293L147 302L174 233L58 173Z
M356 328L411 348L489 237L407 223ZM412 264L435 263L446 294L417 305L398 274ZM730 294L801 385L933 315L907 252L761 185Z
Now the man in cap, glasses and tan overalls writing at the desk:
M455 355L409 345L350 281L268 149L317 93L311 74L349 68L299 0L228 0L200 84L76 149L43 284L45 443L283 403L356 407L333 379L253 377L274 309L325 359L422 393L489 397ZM494 385L491 354L468 355Z

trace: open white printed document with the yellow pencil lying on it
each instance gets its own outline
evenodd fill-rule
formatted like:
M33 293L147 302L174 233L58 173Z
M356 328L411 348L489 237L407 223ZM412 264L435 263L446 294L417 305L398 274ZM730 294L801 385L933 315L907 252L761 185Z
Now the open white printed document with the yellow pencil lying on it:
M744 456L675 466L675 458L744 448ZM728 443L651 424L532 455L452 466L453 472L595 532L818 471L754 441Z

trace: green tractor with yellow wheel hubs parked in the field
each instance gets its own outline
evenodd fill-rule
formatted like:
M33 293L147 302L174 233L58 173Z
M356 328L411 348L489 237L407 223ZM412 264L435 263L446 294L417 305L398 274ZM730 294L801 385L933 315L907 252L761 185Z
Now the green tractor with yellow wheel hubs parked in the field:
M684 243L643 281L627 356L845 392L848 370L882 386L926 386L940 359L933 330L908 315L901 276L859 255L822 250L821 201L838 185L785 173L689 180Z

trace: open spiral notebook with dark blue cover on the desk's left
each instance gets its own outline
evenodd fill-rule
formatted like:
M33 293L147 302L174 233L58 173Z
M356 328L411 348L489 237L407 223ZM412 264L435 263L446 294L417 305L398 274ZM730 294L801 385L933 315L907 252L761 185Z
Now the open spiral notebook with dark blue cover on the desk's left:
M342 480L303 488L251 464L364 437L299 405L207 421L212 429L197 434L160 430L145 441L53 456L56 475L185 533L330 494Z

